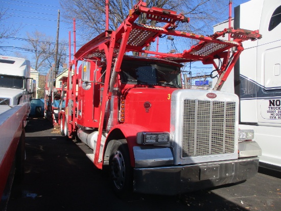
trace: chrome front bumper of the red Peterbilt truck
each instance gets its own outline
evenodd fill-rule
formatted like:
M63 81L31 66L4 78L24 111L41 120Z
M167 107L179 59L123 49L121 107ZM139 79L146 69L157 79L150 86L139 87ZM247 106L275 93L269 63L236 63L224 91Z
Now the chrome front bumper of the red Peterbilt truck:
M134 168L134 192L176 195L253 177L259 158L245 158L199 164Z

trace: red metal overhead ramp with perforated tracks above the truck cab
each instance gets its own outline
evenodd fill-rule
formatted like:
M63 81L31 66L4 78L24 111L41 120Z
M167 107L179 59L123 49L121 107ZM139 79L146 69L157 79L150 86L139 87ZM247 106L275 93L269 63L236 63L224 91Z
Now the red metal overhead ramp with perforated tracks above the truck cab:
M158 27L135 23L137 17L142 13L145 13L148 19L157 20L159 24L166 23L166 25ZM175 30L177 22L189 23L189 21L189 18L177 14L175 11L156 7L147 8L146 3L139 2L130 10L130 14L118 30L107 31L92 39L76 53L76 57L77 59L88 59L91 57L106 59L106 54L109 50L108 47L111 42L114 42L114 45L112 45L114 49L113 58L118 56L122 48L124 53L130 51L147 53L158 58L169 59L176 62L202 61L204 64L214 64L214 59L226 58L224 59L225 64L223 65L223 67L225 67L229 60L229 56L227 58L227 53L225 51L235 47L237 49L236 53L240 52L243 50L241 45L242 41L248 39L254 40L261 37L258 31L243 29L233 30L231 28L216 32L210 36ZM234 38L233 41L219 39L219 37L225 36L227 33L231 34L231 37ZM198 40L198 44L182 53L161 53L146 50L146 47L155 42L157 37L162 37L164 35L195 39ZM124 43L125 36L126 43ZM222 68L222 70L219 71L224 70Z

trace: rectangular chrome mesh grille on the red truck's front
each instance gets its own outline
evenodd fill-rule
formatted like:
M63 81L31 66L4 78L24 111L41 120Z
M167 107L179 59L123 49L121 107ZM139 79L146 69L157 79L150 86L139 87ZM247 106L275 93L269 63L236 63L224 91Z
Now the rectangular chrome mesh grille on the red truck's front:
M182 157L234 153L235 102L183 101Z

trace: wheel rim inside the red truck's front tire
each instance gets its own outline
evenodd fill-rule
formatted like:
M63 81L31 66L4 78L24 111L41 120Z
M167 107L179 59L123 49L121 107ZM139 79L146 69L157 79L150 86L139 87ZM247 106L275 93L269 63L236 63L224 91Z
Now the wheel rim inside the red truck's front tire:
M124 157L120 151L116 151L114 153L114 157L112 158L111 172L115 186L119 189L122 189L125 184L125 163Z

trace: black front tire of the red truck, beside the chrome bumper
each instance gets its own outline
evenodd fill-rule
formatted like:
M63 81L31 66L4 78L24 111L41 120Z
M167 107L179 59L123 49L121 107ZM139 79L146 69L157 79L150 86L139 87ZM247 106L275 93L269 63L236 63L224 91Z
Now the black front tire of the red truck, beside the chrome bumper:
M112 144L109 166L113 191L121 198L127 197L133 189L133 170L126 139L116 140Z

